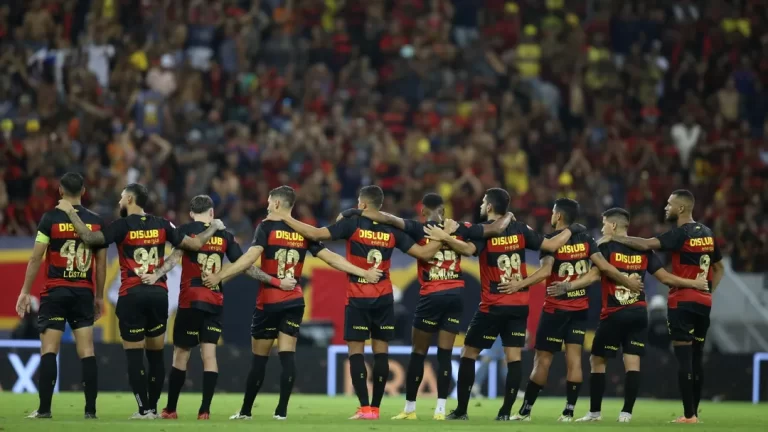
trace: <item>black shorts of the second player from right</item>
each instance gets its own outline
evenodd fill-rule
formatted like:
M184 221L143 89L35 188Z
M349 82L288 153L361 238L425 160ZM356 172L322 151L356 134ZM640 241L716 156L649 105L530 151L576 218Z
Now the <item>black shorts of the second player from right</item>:
M624 354L642 357L648 341L648 310L630 307L614 312L600 320L592 341L592 354L614 358L619 348Z

